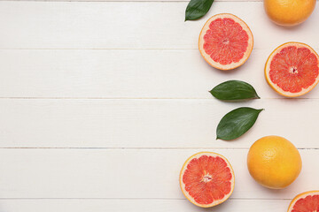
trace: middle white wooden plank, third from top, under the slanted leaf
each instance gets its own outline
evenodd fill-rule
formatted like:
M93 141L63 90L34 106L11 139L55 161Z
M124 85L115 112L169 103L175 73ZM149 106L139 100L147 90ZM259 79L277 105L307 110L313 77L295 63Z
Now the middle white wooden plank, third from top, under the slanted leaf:
M237 140L215 140L230 110L264 108ZM319 100L0 100L3 148L249 148L277 134L319 148Z

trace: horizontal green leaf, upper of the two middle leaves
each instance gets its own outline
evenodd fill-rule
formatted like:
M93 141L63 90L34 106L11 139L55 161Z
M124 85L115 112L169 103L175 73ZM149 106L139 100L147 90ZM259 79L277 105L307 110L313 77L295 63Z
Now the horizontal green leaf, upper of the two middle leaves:
M222 82L214 87L210 93L219 100L260 99L250 84L239 80Z

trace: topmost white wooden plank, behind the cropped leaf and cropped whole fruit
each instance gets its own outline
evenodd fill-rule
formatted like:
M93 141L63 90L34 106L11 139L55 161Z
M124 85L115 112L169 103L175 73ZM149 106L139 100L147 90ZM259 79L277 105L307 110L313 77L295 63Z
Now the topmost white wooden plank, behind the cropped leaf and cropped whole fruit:
M275 49L289 41L319 48L315 21L319 7L306 23L287 29L271 23L262 2L219 2L206 18L193 22L183 21L186 5L0 2L0 49L197 49L201 27L220 12L234 13L246 21L254 34L255 49Z

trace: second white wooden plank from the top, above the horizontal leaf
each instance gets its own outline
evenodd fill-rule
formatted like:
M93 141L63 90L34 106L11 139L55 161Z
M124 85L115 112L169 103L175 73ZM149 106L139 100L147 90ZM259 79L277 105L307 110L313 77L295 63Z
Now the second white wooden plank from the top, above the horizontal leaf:
M263 73L270 52L255 49L242 67L221 72L196 49L0 50L0 97L212 99L208 90L241 79L261 98L281 98ZM319 88L302 98L319 98Z

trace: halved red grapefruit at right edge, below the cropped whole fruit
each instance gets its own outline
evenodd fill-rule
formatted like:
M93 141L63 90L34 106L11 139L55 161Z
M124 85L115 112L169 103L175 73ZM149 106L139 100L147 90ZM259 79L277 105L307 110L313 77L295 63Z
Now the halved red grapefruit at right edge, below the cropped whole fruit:
M284 43L268 57L265 65L266 80L279 95L305 95L318 83L318 61L317 53L307 44Z

